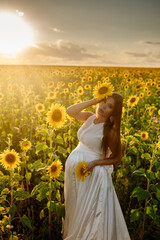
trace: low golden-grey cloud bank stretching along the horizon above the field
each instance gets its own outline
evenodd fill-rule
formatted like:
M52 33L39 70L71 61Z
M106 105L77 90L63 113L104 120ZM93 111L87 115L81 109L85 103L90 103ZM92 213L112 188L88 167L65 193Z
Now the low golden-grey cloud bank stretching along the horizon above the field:
M159 59L160 51L156 49L103 49L60 39L55 43L37 43L12 57L0 55L0 64L160 67Z

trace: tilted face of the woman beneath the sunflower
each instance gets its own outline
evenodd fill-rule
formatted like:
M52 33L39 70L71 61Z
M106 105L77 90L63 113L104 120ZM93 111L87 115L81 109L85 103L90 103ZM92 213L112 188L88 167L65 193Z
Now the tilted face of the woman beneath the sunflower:
M110 115L112 115L114 110L114 98L108 97L107 99L103 99L97 108L97 114L107 119Z

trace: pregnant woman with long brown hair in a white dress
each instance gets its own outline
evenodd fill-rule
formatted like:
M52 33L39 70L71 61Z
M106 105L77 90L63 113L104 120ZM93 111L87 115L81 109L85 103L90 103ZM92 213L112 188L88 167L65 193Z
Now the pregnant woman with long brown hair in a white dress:
M97 105L96 114L82 111ZM83 125L77 132L78 146L65 164L64 240L130 240L113 183L113 165L121 163L120 124L123 98L113 92L108 98L74 104L67 113ZM80 162L87 162L84 181L75 174Z

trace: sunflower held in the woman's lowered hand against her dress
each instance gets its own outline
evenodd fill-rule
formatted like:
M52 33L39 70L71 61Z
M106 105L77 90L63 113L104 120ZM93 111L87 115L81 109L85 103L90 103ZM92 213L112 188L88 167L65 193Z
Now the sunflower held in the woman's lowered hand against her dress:
M78 163L75 168L75 175L80 181L84 181L85 178L89 175L90 171L87 171L87 162L83 161Z

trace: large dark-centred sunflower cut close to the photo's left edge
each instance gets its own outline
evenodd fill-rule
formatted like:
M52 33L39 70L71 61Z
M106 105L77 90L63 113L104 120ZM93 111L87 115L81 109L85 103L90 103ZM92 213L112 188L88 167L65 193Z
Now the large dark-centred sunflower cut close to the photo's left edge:
M4 166L5 169L14 169L19 165L20 157L18 153L12 149L5 150L3 153L0 154L0 162Z

